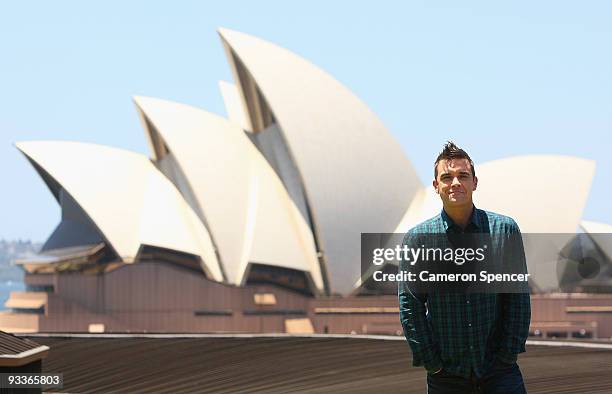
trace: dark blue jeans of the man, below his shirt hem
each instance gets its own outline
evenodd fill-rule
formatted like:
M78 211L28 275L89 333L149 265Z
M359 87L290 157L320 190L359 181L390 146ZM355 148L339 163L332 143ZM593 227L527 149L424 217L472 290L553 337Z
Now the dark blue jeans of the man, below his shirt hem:
M526 394L523 375L516 363L495 359L491 368L480 378L451 375L444 369L427 374L428 394Z

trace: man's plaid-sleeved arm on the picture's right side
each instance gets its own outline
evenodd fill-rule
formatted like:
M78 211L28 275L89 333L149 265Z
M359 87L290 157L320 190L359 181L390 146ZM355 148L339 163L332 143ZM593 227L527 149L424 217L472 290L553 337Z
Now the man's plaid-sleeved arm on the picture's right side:
M509 258L513 267L527 273L525 249L518 225L514 223L510 234ZM514 269L514 268L513 268ZM529 286L523 292L500 294L502 300L503 336L498 357L505 362L516 361L517 354L525 351L531 322L531 300Z

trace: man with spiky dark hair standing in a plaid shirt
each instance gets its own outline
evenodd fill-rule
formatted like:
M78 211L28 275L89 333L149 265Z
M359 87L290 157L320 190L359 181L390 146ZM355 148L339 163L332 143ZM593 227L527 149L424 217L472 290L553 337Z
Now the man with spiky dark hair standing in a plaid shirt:
M417 235L422 239L486 233L520 239L514 220L474 206L472 192L477 185L472 159L449 141L434 167L433 187L443 209L412 228L404 245L421 246L420 241L416 244ZM522 241L518 258L524 265ZM410 264L401 261L400 271L407 268ZM399 304L413 365L427 370L428 393L526 393L516 360L517 354L525 351L529 332L528 292L421 293L400 282Z

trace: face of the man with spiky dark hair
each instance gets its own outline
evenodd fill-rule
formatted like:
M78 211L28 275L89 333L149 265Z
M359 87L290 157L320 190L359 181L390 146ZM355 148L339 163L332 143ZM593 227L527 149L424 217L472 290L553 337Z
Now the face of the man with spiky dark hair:
M476 190L478 178L472 176L468 159L441 160L437 169L438 176L433 181L433 187L444 207L471 207L472 192Z

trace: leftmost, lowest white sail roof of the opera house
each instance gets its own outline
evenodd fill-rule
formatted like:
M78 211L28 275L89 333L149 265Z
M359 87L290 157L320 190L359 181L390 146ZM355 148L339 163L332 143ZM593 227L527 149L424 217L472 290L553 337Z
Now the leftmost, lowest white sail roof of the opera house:
M142 245L199 256L215 280L223 276L206 228L174 185L143 155L107 146L64 141L17 143L97 226L124 262ZM54 191L54 194L57 191Z

